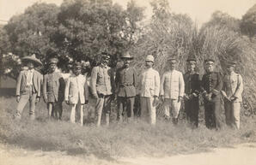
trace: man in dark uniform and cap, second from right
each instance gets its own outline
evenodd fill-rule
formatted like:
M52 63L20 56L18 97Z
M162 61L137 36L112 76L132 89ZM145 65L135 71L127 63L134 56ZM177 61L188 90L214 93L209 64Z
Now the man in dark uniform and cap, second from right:
M204 60L204 69L201 90L204 97L205 125L208 128L220 129L221 119L221 93L222 76L215 72L215 61L213 59Z

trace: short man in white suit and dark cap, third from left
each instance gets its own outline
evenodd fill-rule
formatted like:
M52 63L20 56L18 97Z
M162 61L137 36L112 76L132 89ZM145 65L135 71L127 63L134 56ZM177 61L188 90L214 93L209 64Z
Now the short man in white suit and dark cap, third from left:
M65 102L71 105L70 122L76 122L76 108L80 110L80 124L83 125L83 104L88 103L88 85L84 75L81 74L82 64L76 62L73 73L65 86Z

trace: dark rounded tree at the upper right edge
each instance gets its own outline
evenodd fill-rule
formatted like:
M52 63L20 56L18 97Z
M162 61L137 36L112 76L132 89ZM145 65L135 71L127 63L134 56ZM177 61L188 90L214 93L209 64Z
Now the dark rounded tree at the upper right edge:
M241 32L253 38L256 34L256 4L241 19Z

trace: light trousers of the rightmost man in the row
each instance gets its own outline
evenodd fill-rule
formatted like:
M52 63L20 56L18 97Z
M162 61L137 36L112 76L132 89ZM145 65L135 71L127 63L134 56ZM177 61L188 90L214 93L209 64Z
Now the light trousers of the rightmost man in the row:
M240 128L240 109L241 102L229 102L225 101L224 104L226 123L230 127Z

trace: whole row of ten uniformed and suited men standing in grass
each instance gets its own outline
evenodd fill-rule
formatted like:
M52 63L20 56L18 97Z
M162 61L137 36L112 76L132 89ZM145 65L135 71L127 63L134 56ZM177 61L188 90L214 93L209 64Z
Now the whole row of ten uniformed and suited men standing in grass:
M109 125L111 103L117 97L117 120L127 121L134 118L135 98L140 98L140 117L155 125L155 107L162 100L164 116L167 121L172 119L174 125L178 123L180 105L184 100L187 121L192 127L198 127L199 95L204 98L205 125L208 128L222 127L221 97L224 97L226 123L230 127L240 127L241 92L243 84L240 74L235 73L235 62L227 64L227 74L222 75L215 71L213 59L204 60L205 74L202 80L195 71L197 60L189 56L186 60L186 74L176 70L177 59L168 59L169 69L160 79L159 73L153 68L154 56L146 56L145 69L137 74L137 70L130 66L133 56L128 52L121 56L123 66L114 70L108 66L110 55L101 54L100 65L94 67L89 83L91 94L96 99L96 125L101 126L101 117L104 116L106 125ZM48 73L42 75L34 69L42 65L35 56L25 56L22 62L27 69L21 71L16 88L18 106L15 118L21 118L22 110L29 101L29 115L34 119L35 103L41 96L41 85L44 101L47 104L49 117L58 120L62 116L62 103L70 105L70 122L76 122L76 109L80 112L80 124L83 125L84 104L88 103L88 78L82 75L82 63L75 62L73 74L64 80L58 71L58 58L49 60ZM43 82L43 83L42 83Z

